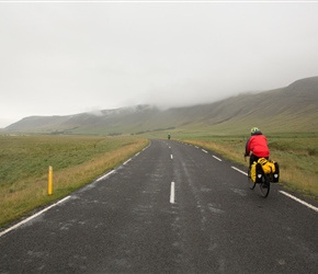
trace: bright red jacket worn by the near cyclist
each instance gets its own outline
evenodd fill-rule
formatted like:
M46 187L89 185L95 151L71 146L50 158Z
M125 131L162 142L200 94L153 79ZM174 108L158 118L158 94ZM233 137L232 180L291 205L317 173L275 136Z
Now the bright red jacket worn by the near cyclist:
M252 152L257 157L269 157L270 150L268 147L268 139L261 133L252 135L246 145L246 155Z

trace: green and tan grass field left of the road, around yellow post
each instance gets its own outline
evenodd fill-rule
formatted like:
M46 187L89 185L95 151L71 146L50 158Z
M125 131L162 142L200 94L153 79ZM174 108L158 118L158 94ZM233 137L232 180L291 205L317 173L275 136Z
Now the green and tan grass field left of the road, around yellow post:
M92 182L147 145L132 137L0 136L0 227Z

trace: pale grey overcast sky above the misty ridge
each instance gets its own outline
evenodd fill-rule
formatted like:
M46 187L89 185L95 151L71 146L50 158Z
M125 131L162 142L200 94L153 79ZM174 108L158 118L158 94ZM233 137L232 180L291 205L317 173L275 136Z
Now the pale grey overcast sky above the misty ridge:
M318 2L0 1L0 127L313 76Z

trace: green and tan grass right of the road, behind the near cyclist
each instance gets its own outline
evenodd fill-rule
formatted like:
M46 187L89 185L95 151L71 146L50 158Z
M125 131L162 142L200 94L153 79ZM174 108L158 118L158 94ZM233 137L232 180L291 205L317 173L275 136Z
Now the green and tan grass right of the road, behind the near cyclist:
M271 159L281 168L281 184L318 201L318 135L284 134L266 136ZM239 164L243 160L246 136L189 136L181 140L209 149Z

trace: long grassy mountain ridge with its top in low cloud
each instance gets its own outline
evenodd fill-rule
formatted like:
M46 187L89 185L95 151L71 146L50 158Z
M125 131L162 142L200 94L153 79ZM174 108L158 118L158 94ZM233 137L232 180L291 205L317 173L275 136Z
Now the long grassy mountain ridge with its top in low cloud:
M5 127L4 132L120 135L211 128L231 134L252 125L270 132L318 128L318 77L300 79L285 88L164 111L137 105L65 116L30 116Z

